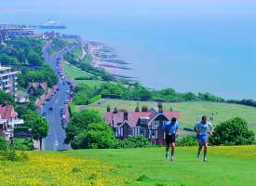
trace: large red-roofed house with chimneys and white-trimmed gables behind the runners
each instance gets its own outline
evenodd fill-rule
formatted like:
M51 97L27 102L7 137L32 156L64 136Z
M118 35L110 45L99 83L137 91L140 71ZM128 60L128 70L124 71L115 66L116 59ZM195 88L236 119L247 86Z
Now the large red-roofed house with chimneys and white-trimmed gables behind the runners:
M104 113L104 122L114 129L115 137L118 139L142 135L152 143L163 144L165 140L163 124L172 117L179 119L180 113L165 112L163 105L158 103L158 109L148 110L143 107L140 111L137 106L135 112L117 109L111 112L108 108Z

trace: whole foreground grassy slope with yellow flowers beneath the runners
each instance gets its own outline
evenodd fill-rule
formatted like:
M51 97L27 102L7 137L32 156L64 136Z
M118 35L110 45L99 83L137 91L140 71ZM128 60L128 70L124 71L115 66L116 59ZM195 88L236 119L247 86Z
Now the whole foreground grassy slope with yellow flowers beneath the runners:
M0 185L255 185L256 146L210 147L209 163L195 152L177 148L172 163L164 148L30 152L28 160L0 162Z

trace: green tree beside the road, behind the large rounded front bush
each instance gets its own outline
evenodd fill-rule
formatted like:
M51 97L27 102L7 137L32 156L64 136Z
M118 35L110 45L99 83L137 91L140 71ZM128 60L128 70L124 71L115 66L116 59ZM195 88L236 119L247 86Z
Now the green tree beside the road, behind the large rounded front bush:
M66 128L67 137L65 141L70 142L74 140L74 136L87 129L89 124L101 121L100 113L93 110L85 110L81 113L76 113Z

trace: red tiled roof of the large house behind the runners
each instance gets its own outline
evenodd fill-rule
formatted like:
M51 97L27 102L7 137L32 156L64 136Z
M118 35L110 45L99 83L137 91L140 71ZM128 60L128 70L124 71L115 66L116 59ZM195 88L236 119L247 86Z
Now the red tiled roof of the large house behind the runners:
M158 113L155 113L154 111L149 112L128 112L128 124L129 126L135 127L138 123L138 120L140 117L148 117L149 121L152 120L155 115ZM171 120L172 117L176 117L177 119L180 118L179 112L164 112L163 113L169 120ZM106 112L104 114L104 121L111 126L119 126L124 122L124 112L118 111L118 113L112 113L112 112Z

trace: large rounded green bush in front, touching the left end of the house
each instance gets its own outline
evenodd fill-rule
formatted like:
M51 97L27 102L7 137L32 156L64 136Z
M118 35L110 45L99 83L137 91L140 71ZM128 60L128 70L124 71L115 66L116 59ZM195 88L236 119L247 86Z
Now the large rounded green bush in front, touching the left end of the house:
M115 148L114 131L103 122L88 124L88 128L74 137L71 143L74 149Z

